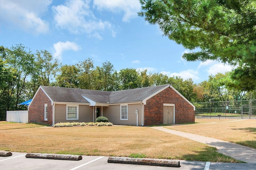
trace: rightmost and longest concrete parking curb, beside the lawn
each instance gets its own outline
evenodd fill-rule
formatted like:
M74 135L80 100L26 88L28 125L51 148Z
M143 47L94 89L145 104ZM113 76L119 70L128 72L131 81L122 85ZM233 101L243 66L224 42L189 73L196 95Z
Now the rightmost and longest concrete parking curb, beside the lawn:
M168 159L109 157L108 163L180 167L180 161Z

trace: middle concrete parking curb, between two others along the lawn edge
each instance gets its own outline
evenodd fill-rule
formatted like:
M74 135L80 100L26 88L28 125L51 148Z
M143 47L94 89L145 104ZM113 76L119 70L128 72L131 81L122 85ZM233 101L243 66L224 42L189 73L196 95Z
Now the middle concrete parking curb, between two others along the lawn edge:
M40 158L40 159L56 159L56 160L81 160L81 155L62 155L62 154L40 154L28 153L26 158Z

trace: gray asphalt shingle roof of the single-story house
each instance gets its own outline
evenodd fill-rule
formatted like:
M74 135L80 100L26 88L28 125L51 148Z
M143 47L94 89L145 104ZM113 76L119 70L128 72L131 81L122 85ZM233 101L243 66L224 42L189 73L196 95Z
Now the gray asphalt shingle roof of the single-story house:
M84 97L94 102L118 103L118 102L135 102L142 101L159 90L170 86L169 84L161 86L151 86L144 88L136 88L130 90L121 90L114 92L106 92L100 90L86 90L77 88L61 88L52 86L41 86L46 94L54 102L78 102L89 103ZM84 96L84 97L83 97Z

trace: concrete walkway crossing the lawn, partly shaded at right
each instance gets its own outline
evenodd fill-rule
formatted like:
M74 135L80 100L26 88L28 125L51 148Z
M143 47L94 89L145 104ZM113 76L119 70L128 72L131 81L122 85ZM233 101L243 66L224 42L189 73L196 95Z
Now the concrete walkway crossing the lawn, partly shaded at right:
M157 126L152 128L161 130L170 134L182 136L184 138L188 138L191 140L195 140L197 142L208 144L210 146L217 148L219 153L224 154L226 156L230 156L236 160L241 160L241 161L252 163L252 164L256 163L256 149L242 146L239 144L234 144L231 142L226 142L224 140L218 140L215 138L208 138L208 137L200 136L196 134L190 134L190 133L180 132L177 130L171 130L168 128L164 128L164 126Z

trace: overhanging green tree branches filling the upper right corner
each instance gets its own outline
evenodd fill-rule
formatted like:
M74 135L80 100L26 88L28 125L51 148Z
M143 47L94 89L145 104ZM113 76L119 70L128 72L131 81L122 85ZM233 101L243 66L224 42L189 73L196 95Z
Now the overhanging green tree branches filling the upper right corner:
M252 0L140 0L139 16L190 50L188 61L218 60L234 66L239 88L256 88L256 3Z

